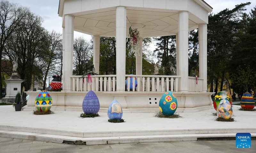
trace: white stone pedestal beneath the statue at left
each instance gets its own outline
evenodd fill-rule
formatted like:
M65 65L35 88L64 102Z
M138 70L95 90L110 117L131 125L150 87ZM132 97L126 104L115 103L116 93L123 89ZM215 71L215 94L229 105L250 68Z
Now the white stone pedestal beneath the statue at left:
M6 96L2 98L2 103L12 104L18 91L21 91L21 80L17 71L12 72L12 76L8 80L4 80L7 84Z

